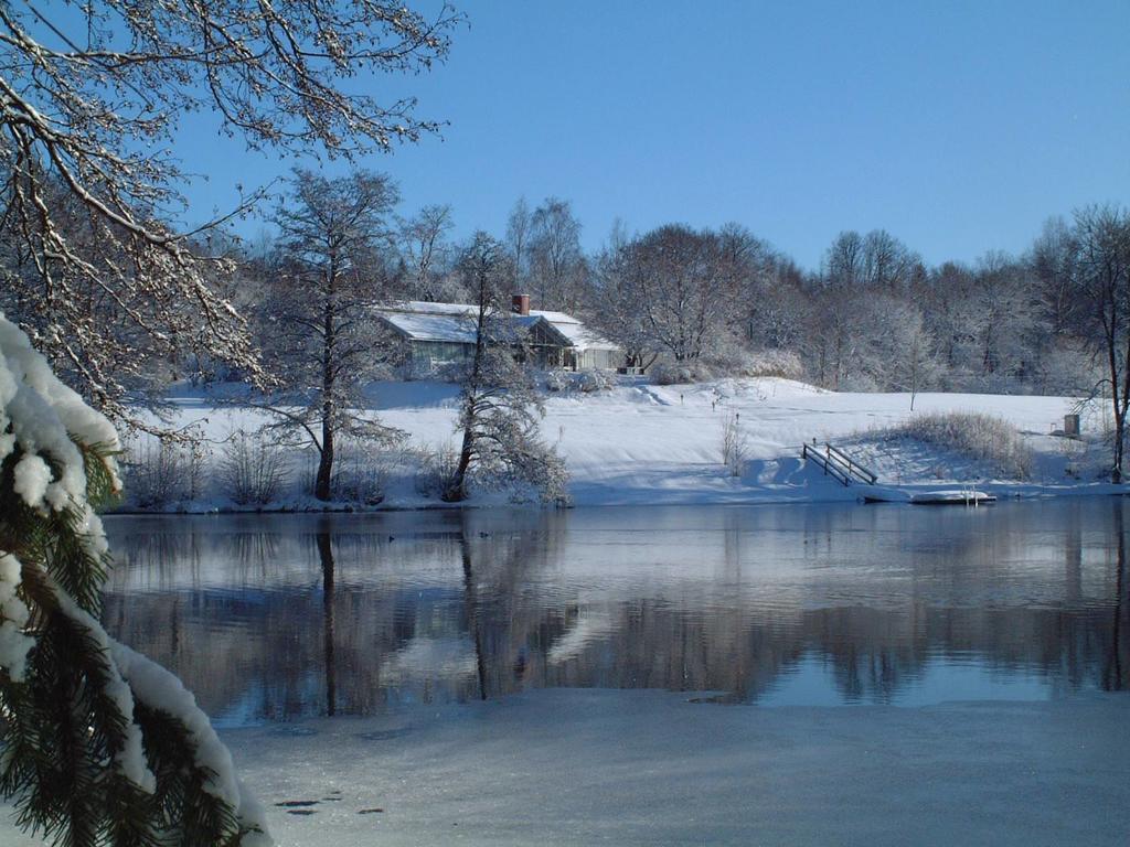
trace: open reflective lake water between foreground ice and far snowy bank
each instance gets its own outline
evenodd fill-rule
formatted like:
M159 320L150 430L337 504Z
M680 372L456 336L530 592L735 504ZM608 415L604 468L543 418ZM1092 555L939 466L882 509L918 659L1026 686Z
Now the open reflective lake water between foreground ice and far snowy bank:
M548 687L1124 697L1130 501L116 516L111 634L220 726Z

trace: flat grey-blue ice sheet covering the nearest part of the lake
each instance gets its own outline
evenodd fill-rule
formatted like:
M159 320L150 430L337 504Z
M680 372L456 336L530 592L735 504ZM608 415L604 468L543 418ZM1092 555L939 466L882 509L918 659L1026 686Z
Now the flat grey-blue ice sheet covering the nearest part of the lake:
M282 847L1130 841L1124 697L706 699L555 689L221 735ZM36 844L0 811L0 844Z

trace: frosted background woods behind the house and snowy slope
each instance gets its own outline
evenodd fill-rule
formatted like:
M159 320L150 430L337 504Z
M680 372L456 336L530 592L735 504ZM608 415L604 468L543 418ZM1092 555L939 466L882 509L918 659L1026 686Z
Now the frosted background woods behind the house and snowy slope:
M364 178L372 175L345 182L356 187ZM301 180L294 187L298 195ZM389 207L370 220L363 250L342 265L355 281L341 295L349 308L471 302L459 271L467 245L452 239L452 218L450 207L428 206L405 218ZM939 265L885 230L845 230L820 267L807 270L736 224L668 224L637 234L618 224L601 250L586 254L581 221L558 198L532 209L520 200L502 243L515 292L530 294L533 308L579 314L635 367L673 367L689 378L770 367L838 390L1089 394L1105 387L1109 395L1102 384L1110 382L1109 351L1096 346L1102 315L1088 300L1084 272L1087 252L1102 247L1092 237L1101 220L1110 230L1109 259L1124 274L1127 215L1098 207L1050 219L1022 255L994 252ZM302 280L310 268L285 238L261 239L244 259L237 298L268 358L286 358L280 348L293 350L294 338L278 332L287 313L280 304L293 303L295 291L308 294ZM308 306L306 294L299 299ZM1124 361L1125 351L1118 352ZM367 365L394 372L394 349L368 346L366 356Z

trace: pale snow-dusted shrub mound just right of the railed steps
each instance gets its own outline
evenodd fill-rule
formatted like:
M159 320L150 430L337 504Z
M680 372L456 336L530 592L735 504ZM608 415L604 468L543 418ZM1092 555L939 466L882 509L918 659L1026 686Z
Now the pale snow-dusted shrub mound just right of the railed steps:
M1010 479L1032 473L1032 451L1020 434L1005 420L976 412L915 414L890 435L914 438L944 449L986 462Z

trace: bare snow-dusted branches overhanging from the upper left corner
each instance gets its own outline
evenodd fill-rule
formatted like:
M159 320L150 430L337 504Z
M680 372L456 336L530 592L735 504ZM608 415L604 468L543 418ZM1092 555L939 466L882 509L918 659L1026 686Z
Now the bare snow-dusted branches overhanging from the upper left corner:
M0 225L19 259L5 287L36 317L36 347L119 420L127 383L186 339L257 375L245 323L214 286L232 262L199 235L260 193L177 228L189 177L168 142L182 115L215 113L252 150L349 157L414 141L437 124L412 98L342 82L429 68L459 20L399 0L0 7Z

